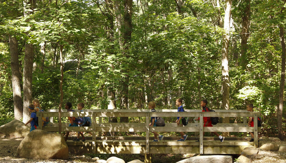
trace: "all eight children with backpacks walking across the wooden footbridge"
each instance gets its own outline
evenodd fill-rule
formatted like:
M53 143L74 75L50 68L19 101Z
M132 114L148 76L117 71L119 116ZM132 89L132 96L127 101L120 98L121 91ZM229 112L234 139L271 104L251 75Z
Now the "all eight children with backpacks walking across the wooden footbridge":
M31 124L30 132L32 130L35 130L39 126L38 118L36 116L36 112L37 111L43 111L42 108L41 108L41 104L40 104L38 99L34 99L32 102L33 102L33 104L30 104L28 106L28 109L31 112L31 118L25 124L25 125L27 125L29 123ZM184 112L182 103L183 103L183 100L181 98L178 98L176 100L176 105L178 107L178 112ZM209 112L210 111L210 109L207 107L207 100L202 100L201 103L200 103L200 106L203 108L203 110L202 110L203 112ZM72 107L72 104L70 102L67 102L65 104L64 108L67 109L67 111L74 111L74 110L71 109L71 107ZM83 107L84 107L83 103L78 103L77 104L77 109L79 111L82 111ZM152 112L156 111L155 110L155 107L156 107L155 102L153 102L153 101L149 102L148 103L148 107L149 107L149 109L151 109ZM250 112L253 111L253 108L254 108L253 104L248 104L246 106L247 111L250 111ZM176 123L177 123L178 127L182 127L183 126L183 124L181 123L182 118L183 117L177 117ZM68 119L69 119L69 122L70 122L69 123L69 127L79 127L79 126L81 126L81 127L89 127L91 125L91 118L90 117L68 117ZM200 120L200 118L194 119L194 121L198 121L198 120ZM44 125L45 123L48 123L47 121L48 120L46 119L46 117L43 117L43 124L42 125ZM156 117L151 117L150 121L151 121L151 123L149 124L149 126L152 126L152 127L154 126L155 127L156 126ZM212 127L212 121L211 121L210 117L203 117L203 121L204 121L204 127ZM257 122L258 122L258 127L261 127L261 118L260 117L258 117L258 121ZM249 127L254 127L253 117L250 117L250 120L248 122L248 126ZM92 132L89 132L89 133L92 135ZM162 140L163 137L164 137L163 135L158 134L158 132L152 132L152 133L154 134L154 140L153 141L158 141L158 138L159 138L159 140ZM217 132L212 132L212 133L217 135L221 142L224 141L225 137L222 137ZM185 134L184 132L180 132L180 134L181 134L181 139L179 139L177 141L185 141L187 139L188 135ZM203 132L203 135L204 134L205 134L205 132ZM73 139L73 141L80 141L80 139L79 139L80 135L82 137L82 141L86 141L86 138L84 137L83 132L78 132L77 137L75 139ZM254 134L253 134L253 132L250 132L250 135L251 135L251 138L252 138L250 141L254 141ZM65 141L67 141L68 136L69 136L69 132L66 133ZM199 140L197 140L197 141L199 141Z

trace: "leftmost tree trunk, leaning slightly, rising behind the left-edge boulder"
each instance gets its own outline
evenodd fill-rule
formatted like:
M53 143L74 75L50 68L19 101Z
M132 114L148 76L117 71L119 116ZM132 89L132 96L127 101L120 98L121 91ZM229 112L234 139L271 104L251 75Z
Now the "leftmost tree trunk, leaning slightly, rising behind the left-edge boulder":
M18 41L15 37L9 36L10 55L11 55L11 72L12 72L12 87L14 101L14 117L21 121L23 118L23 104L21 94L21 76L19 65Z

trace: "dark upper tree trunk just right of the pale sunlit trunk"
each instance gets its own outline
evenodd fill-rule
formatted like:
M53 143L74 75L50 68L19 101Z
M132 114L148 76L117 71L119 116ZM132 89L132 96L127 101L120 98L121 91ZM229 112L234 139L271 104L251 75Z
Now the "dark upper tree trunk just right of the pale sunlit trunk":
M241 66L245 70L247 65L247 39L249 37L249 27L250 27L250 0L245 0L245 8L243 10L243 17L242 17L242 31L241 31L241 59L242 63Z

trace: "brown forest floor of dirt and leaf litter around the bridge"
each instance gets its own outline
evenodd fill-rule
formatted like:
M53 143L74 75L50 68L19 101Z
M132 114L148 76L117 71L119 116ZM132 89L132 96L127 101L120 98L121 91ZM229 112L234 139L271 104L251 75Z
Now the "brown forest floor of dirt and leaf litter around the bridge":
M99 157L100 159L107 160L107 158L115 156L125 160L125 162L129 162L135 159L144 161L144 155L140 154L86 154L86 155L69 155L68 160L34 160L34 159L25 159L17 156L17 148L20 145L22 138L0 138L0 163L88 163L94 162L92 157ZM262 143L268 143L266 141L262 141ZM286 143L286 141L277 141L274 142L276 144ZM238 155L232 155L235 160ZM175 163L180 160L184 160L189 158L183 154L153 154L152 162L156 163ZM252 163L285 163L286 162L286 153L274 152L274 151L266 151L259 149L259 153L257 156L251 157L250 161Z

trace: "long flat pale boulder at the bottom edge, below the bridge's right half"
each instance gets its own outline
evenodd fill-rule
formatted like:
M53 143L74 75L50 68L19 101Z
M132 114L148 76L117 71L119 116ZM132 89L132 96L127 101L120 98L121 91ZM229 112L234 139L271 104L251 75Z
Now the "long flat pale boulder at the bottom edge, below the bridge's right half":
M195 156L177 163L232 163L231 156L211 155L211 156Z

